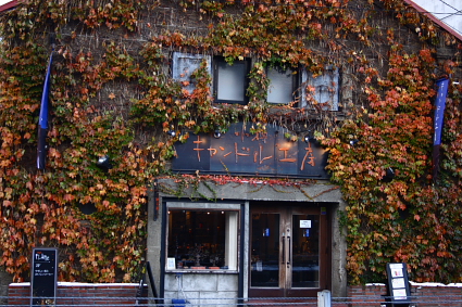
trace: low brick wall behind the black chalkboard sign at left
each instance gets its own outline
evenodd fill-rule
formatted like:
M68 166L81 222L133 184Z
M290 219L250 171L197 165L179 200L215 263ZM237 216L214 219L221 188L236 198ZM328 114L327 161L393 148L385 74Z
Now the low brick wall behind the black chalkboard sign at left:
M59 282L57 305L99 306L136 305L136 283L72 283ZM146 291L145 291L146 292ZM29 306L30 284L12 283L9 286L8 306Z

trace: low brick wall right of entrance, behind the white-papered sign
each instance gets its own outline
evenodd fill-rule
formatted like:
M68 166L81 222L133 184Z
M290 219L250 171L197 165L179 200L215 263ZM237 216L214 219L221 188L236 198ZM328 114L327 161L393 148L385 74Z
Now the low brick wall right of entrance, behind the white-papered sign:
M378 307L387 295L385 284L348 286L350 307ZM417 307L462 307L462 284L413 283L411 282L412 305ZM361 303L361 304L360 304ZM369 304L367 304L369 303Z

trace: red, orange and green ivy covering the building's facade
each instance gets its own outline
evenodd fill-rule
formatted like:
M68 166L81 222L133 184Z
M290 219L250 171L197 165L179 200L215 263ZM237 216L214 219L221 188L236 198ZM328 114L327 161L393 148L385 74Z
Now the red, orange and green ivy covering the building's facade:
M350 281L383 279L388 261L407 261L416 281L460 281L460 87L450 90L436 182L429 170L434 72L454 74L458 66L457 54L454 62L437 63L432 43L440 40L457 52L461 46L403 1L364 1L360 10L349 2L180 1L175 12L200 25L193 33L150 20L168 4L163 1L30 0L4 13L0 265L21 281L32 247L59 246L60 280L130 281L143 260L149 190L155 177L168 175L173 144L188 138L185 131L226 130L238 120L253 123L252 132L270 124L296 130L315 123L330 151L332 179L348 203L341 220ZM415 35L420 50L404 48L377 16L411 28L404 31ZM52 43L52 120L41 171L35 167L36 131ZM384 52L374 53L377 46ZM171 51L218 54L228 63L252 57L249 103L215 105L205 61L192 72L195 89L185 90L166 69ZM296 108L297 101L266 103L265 67L272 65L303 66L313 76L326 65L345 71L350 81L342 91L354 93L341 102L346 119L316 105ZM171 130L173 138L165 133ZM108 171L96 165L105 155ZM389 168L396 177L388 182ZM177 180L195 187L240 182L200 175ZM95 212L86 215L86 208Z

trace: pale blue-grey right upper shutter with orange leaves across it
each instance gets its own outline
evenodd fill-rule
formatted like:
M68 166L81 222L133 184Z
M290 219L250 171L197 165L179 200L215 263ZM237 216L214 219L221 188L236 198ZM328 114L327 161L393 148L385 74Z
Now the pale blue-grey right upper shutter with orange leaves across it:
M300 107L338 111L340 88L338 68L327 68L323 75L317 77L303 71L301 82Z

